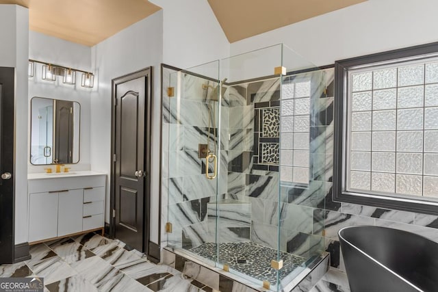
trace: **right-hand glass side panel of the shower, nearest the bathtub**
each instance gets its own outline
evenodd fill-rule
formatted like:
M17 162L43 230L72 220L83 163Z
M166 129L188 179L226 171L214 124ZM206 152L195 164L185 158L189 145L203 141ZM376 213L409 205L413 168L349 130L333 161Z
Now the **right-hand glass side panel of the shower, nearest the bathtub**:
M330 125L333 131L333 74L285 46L282 65L287 74L281 77L278 226L279 261L284 263L278 291L305 275L325 250L324 215L319 211L331 187L326 138ZM284 258L294 266L289 274Z

